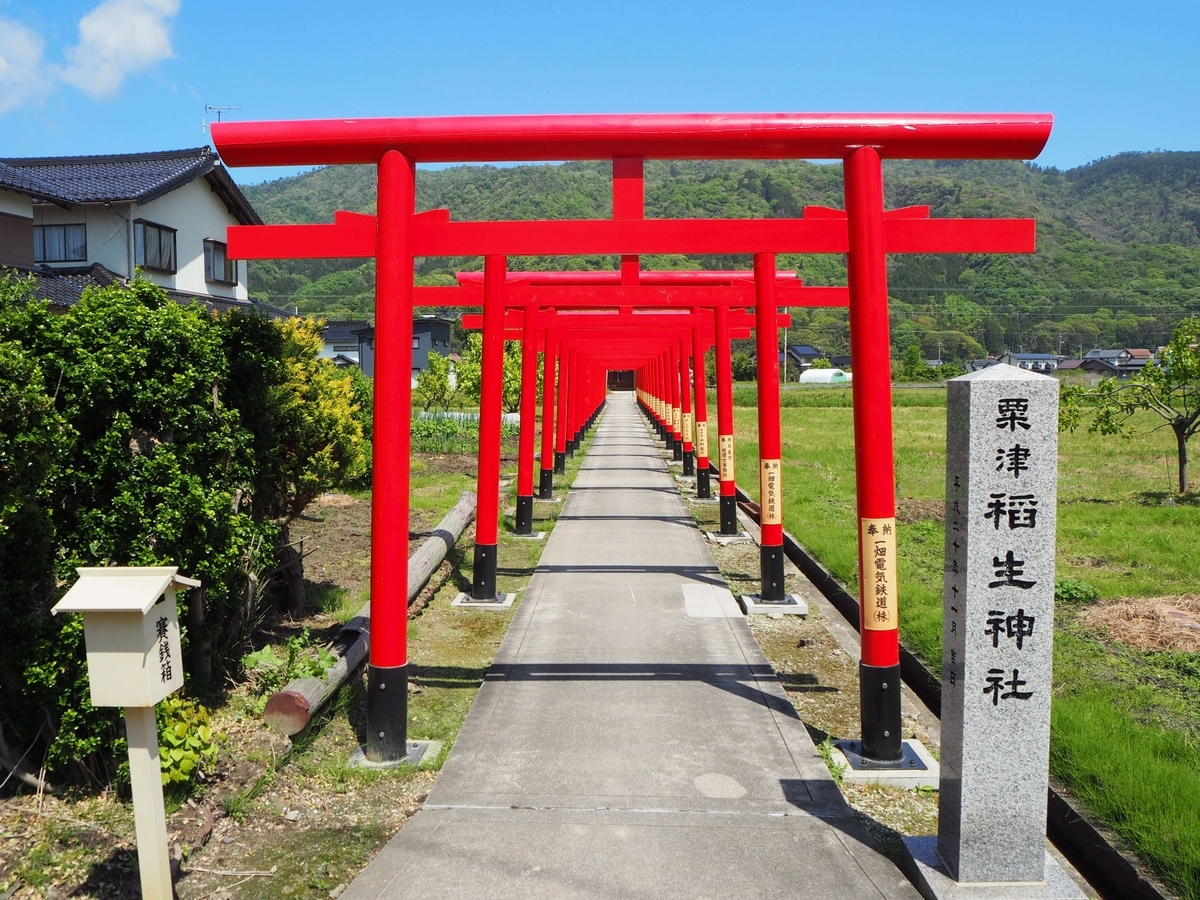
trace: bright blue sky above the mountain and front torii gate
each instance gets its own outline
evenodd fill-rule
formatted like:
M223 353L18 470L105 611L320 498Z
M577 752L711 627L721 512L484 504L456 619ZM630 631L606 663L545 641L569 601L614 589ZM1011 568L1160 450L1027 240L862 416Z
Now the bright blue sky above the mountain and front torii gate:
M952 110L1054 113L1038 162L1069 168L1200 150L1198 10L0 0L0 156L196 146L205 104L242 120Z

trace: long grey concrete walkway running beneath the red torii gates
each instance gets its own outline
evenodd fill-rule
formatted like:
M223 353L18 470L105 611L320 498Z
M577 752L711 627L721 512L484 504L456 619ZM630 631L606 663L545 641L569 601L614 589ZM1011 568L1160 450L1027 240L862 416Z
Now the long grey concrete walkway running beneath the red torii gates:
M701 896L917 893L618 394L424 810L343 898Z

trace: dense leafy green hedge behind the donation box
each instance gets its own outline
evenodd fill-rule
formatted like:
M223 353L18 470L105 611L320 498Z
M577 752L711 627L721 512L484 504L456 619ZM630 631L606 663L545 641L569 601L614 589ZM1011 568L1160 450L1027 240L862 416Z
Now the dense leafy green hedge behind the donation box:
M52 773L114 774L82 623L49 616L76 566L178 565L204 586L181 602L187 674L240 655L281 527L361 466L349 384L314 340L140 280L53 314L0 278L0 628L22 636L0 643L0 752L41 742Z

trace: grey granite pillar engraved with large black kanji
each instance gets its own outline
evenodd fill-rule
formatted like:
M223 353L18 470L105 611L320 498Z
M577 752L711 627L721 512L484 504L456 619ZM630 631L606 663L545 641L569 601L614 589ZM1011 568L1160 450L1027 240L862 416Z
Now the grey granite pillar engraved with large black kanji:
M937 852L961 884L1036 883L1046 877L1058 383L995 365L949 382L947 406Z

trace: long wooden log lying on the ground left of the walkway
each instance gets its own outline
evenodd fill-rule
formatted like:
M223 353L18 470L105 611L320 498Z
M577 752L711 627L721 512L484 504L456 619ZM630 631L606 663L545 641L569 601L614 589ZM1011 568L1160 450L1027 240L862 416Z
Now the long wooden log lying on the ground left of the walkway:
M430 576L442 565L463 530L475 517L475 494L463 491L458 503L408 558L408 602L412 604ZM298 678L266 701L263 718L283 734L296 734L325 702L334 696L367 658L371 637L371 604L366 604L337 634L330 653L337 660L324 678Z

